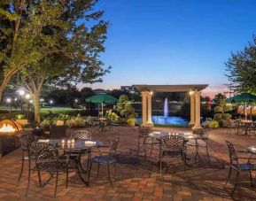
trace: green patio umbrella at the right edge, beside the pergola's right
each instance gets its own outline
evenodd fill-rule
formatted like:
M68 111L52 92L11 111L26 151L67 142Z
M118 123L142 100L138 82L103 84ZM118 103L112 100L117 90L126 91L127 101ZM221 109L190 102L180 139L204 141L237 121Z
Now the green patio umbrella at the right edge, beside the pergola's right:
M247 119L246 104L255 103L256 96L250 93L241 93L241 94L235 95L234 97L227 98L226 101L229 103L244 104L245 105L244 115L245 115L245 118ZM252 107L251 107L251 117L252 117Z

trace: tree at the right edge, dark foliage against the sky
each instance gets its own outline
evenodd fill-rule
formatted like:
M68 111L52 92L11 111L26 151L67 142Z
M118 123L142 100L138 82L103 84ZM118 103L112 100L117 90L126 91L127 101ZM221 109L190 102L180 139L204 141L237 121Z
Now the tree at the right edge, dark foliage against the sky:
M226 76L237 92L256 93L256 37L244 50L231 53L226 63Z

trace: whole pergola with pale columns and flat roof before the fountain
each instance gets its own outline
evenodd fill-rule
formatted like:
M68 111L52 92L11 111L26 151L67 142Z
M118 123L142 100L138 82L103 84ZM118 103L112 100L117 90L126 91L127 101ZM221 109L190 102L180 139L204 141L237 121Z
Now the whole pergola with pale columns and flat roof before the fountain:
M190 127L193 130L201 129L200 123L200 97L201 90L206 89L207 84L189 85L133 85L142 93L143 126L152 126L151 99L153 93L158 92L188 92L190 93Z

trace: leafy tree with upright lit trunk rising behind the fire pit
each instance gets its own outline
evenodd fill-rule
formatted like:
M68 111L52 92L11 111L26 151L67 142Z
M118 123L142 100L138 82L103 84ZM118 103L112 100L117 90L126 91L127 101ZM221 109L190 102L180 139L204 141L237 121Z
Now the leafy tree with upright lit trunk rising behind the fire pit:
M103 12L92 12L96 3L97 0L88 0L86 4L84 1L70 0L65 3L40 1L30 5L30 9L36 9L37 12L44 12L44 9L51 10L49 6L58 7L49 14L57 15L58 23L65 25L57 27L55 24L49 24L39 30L43 34L46 33L45 40L50 40L51 46L54 44L58 46L52 49L42 41L36 41L42 49L50 51L50 55L48 57L41 55L36 61L27 63L22 71L19 70L15 79L16 85L17 83L21 85L34 98L35 121L40 121L40 95L43 85L50 86L54 83L58 86L65 84L70 87L77 82L93 83L102 81L102 76L109 72L109 68L104 69L104 64L99 60L100 53L105 51L108 23L99 20ZM37 16L31 18L34 20ZM77 22L78 20L80 23ZM91 23L90 27L86 27L85 23L88 21Z

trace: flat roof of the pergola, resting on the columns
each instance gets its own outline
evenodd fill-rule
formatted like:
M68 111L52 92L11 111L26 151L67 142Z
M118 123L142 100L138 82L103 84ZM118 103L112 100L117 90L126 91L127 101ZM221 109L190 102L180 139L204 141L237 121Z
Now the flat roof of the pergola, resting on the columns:
M140 91L148 90L154 92L188 92L190 90L206 89L208 84L182 84L182 85L147 85L135 84L133 87Z

